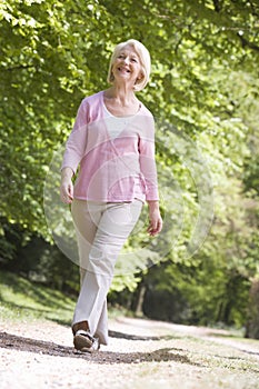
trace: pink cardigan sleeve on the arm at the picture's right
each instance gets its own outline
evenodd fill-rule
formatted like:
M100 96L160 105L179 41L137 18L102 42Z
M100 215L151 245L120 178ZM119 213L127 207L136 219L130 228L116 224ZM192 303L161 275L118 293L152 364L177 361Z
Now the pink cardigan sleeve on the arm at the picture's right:
M155 122L148 120L146 136L139 140L140 171L146 183L146 200L159 200L157 166L155 159Z

